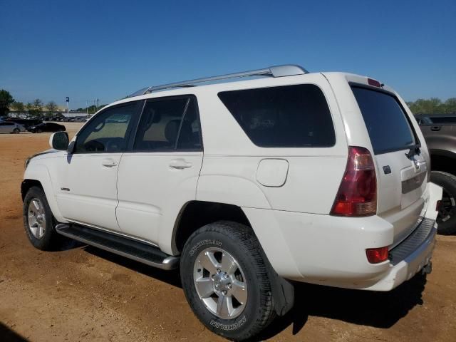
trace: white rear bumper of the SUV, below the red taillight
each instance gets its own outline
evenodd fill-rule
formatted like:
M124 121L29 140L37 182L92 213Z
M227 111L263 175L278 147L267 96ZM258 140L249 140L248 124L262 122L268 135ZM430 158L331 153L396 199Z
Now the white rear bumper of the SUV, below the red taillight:
M366 249L393 245L393 226L381 217L243 209L280 276L346 289L389 291L430 261L437 230L435 204L441 194L440 187L428 185L423 221L391 249L392 260L380 264L368 262Z

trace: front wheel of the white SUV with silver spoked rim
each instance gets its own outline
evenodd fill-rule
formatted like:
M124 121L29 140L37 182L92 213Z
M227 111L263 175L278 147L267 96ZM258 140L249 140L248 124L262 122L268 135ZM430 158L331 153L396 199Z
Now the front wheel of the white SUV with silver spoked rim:
M41 250L53 249L56 232L46 195L39 187L31 187L24 197L24 228L31 244Z

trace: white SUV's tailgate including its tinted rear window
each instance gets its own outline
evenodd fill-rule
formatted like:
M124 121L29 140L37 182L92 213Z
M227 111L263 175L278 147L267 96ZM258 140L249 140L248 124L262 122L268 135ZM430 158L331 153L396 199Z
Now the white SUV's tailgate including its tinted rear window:
M398 244L423 214L427 164L410 118L393 93L353 84L351 89L377 165L377 214L393 224Z

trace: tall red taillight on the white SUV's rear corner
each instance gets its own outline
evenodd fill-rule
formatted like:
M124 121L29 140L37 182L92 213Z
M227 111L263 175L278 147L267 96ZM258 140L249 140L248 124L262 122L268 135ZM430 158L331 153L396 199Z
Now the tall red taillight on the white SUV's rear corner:
M361 217L377 212L377 178L371 152L348 147L348 162L331 215Z

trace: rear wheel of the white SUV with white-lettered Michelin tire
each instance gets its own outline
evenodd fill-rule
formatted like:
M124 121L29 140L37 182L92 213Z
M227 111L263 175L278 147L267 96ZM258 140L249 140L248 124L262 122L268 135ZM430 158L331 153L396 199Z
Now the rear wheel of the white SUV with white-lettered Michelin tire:
M207 224L182 251L180 274L193 312L207 328L236 341L252 338L275 317L264 252L252 229Z

